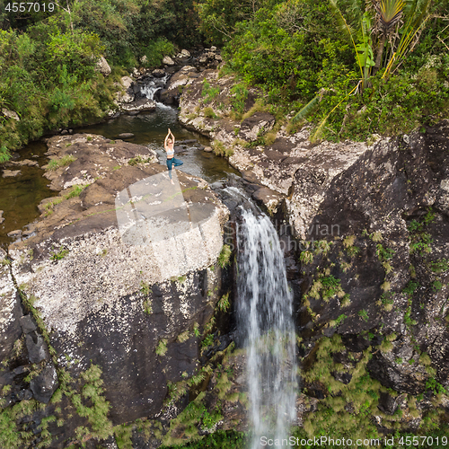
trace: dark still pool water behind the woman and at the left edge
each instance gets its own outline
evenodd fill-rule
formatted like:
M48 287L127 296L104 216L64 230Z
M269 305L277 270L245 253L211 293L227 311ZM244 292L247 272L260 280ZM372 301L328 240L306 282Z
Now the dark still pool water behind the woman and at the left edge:
M90 127L74 129L74 133L100 134L110 139L119 138L121 133L133 133L135 136L127 139L139 145L153 148L159 157L159 162L165 164L163 139L167 129L171 128L177 142L196 139L202 145L209 145L207 137L201 136L180 126L177 119L178 111L172 107L159 105L154 112L137 116L119 116ZM175 143L176 145L176 143ZM48 163L45 156L47 145L43 142L32 142L26 145L20 153L20 160L38 161L39 166ZM226 174L236 170L227 163L225 158L198 150L193 145L186 145L175 156L184 164L180 170L193 176L198 176L208 182L224 180ZM14 178L0 177L0 210L4 211L4 222L0 224L0 247L6 247L13 242L7 233L15 229L23 229L39 216L38 204L44 198L54 197L57 192L48 189L49 181L43 177L44 171L39 167L6 167L8 170L21 170Z

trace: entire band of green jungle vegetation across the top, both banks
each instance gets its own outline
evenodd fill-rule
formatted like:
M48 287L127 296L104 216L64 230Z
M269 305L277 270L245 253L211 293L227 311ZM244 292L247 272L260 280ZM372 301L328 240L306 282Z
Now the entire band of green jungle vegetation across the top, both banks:
M447 116L448 0L71 0L45 13L6 4L0 109L20 121L0 116L0 162L47 131L101 119L124 69L201 42L224 48L242 92L259 86L277 117L295 111L292 131L312 120L315 138L409 132ZM109 78L95 71L101 55Z

